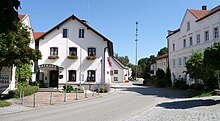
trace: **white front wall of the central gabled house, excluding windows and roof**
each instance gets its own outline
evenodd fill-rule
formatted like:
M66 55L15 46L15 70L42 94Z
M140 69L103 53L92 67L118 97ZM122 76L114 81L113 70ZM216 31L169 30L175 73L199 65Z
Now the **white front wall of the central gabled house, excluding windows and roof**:
M63 38L63 29L68 29L67 38ZM79 38L79 29L85 30L84 38ZM48 56L50 56L50 47L58 48L58 59L48 59ZM77 48L78 59L72 60L67 58L69 55L69 47ZM95 60L86 59L89 47L96 48L97 58ZM106 49L106 52L104 53L106 47L107 41L104 41L103 38L95 34L90 29L87 29L87 27L77 20L69 19L39 41L39 50L42 52L42 59L38 61L38 64L54 64L59 67L63 67L64 69L60 72L60 75L63 75L63 78L59 79L59 84L66 83L66 80L68 80L69 70L76 70L77 74L76 82L68 83L87 83L88 70L96 71L96 82L93 84L101 82L110 83L110 67L107 61L107 57L109 57L108 50ZM105 73L105 78L103 73ZM49 77L49 74L45 76Z

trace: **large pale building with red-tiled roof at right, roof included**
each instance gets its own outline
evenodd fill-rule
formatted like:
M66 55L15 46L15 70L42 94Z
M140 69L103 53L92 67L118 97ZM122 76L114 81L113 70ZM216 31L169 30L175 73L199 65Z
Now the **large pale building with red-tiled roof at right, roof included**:
M214 42L220 41L220 6L207 10L187 9L179 29L168 31L169 65L172 82L175 78L186 79L185 62L193 52L203 51Z

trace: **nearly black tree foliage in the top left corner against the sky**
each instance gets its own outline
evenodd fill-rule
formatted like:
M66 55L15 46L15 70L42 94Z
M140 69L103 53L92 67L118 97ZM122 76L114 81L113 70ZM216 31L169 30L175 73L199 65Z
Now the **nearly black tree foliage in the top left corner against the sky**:
M17 30L19 0L0 0L0 33Z

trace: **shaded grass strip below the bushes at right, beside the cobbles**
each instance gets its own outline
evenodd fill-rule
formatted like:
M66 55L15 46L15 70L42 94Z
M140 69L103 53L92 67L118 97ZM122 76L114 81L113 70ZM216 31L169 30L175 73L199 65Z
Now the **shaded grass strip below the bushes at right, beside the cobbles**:
M207 97L212 96L214 94L214 91L201 91L201 90L189 90L187 97Z

